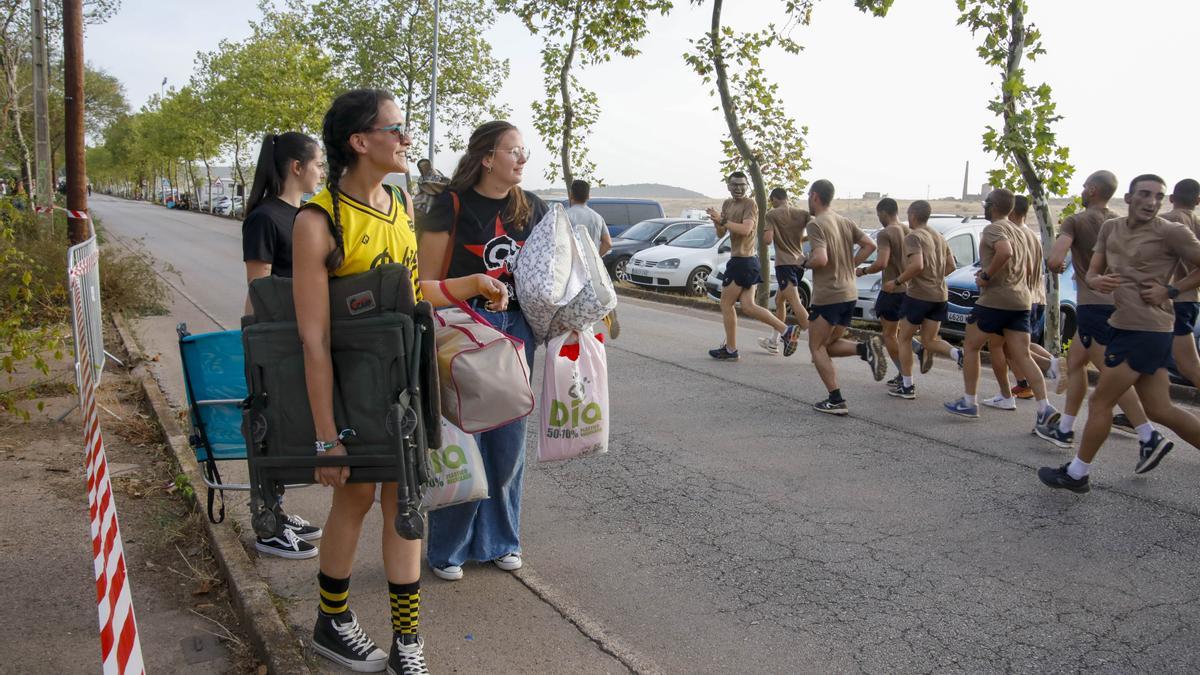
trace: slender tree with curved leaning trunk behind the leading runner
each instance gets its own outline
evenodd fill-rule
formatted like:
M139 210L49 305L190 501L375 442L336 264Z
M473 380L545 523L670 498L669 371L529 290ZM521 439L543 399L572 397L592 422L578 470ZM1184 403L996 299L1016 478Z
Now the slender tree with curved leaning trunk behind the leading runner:
M780 8L786 19L785 29L808 25L816 0L785 0ZM703 0L692 0L702 5ZM854 5L875 16L884 16L892 0L856 0ZM803 192L809 169L805 153L806 126L797 126L779 98L779 85L767 78L762 67L763 53L780 48L797 54L803 49L790 31L770 23L756 32L736 32L721 24L722 0L713 0L713 20L707 34L691 41L688 62L720 100L728 136L721 141L722 174L745 168L754 185L758 204L758 261L763 269L769 264L762 229L767 216L767 183L780 185L791 195ZM732 66L732 67L731 67ZM768 288L761 285L758 301L766 303Z

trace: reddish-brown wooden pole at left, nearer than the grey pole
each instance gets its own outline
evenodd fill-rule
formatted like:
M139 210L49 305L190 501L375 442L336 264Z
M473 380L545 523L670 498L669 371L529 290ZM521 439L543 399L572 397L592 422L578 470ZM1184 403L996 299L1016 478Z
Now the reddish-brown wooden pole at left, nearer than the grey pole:
M62 60L66 77L67 232L71 244L91 237L88 217L88 171L83 147L83 0L62 0Z

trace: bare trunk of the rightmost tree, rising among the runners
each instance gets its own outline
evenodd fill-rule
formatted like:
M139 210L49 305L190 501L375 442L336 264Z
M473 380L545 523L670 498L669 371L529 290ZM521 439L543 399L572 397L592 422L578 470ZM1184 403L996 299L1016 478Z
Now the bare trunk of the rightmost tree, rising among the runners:
M1021 58L1025 53L1025 12L1021 7L1021 0L1010 0L1008 5L1009 16L1012 17L1012 32L1008 42L1008 64L1006 67L1006 82L1012 82L1016 77L1018 71L1021 68ZM1003 88L1004 96L1004 135L1012 136L1014 132L1016 117L1016 101L1008 86ZM1016 163L1018 169L1021 172L1021 178L1025 180L1025 186L1030 191L1030 205L1038 216L1038 226L1042 229L1042 247L1043 251L1049 251L1054 246L1055 227L1054 220L1050 216L1050 204L1046 201L1045 186L1042 178L1038 177L1037 172L1033 171L1033 163L1030 161L1028 151L1025 148L1012 148L1013 162ZM1045 261L1042 261L1043 267ZM1062 353L1062 312L1058 309L1058 274L1050 273L1045 275L1046 283L1046 307L1045 307L1045 335L1043 341L1049 340L1049 345L1045 345L1046 350L1051 354L1058 356Z

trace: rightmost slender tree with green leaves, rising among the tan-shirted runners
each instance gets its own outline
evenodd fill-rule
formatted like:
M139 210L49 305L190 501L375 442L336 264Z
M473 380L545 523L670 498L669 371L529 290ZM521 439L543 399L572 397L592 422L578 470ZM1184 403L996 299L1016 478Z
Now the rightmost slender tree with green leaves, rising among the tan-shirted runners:
M1050 196L1067 193L1075 167L1070 151L1057 143L1054 125L1062 119L1057 113L1050 85L1030 84L1025 78L1022 59L1036 60L1045 54L1042 31L1026 20L1025 0L956 0L959 24L982 36L976 48L979 58L997 68L1000 84L988 109L1002 120L1000 129L989 125L983 135L983 147L994 153L1002 168L990 174L992 185L1030 195L1030 205L1037 214L1042 229L1042 245L1050 250L1055 238L1055 222L1050 215ZM1058 312L1058 275L1046 275L1046 346L1051 353L1062 351L1061 317Z

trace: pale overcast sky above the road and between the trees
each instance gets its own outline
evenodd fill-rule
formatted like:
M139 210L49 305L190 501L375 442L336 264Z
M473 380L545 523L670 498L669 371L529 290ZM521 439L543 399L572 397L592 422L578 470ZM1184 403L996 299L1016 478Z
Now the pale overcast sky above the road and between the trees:
M1200 141L1187 131L1200 102L1192 79L1200 2L1028 4L1049 52L1030 66L1030 77L1054 88L1066 118L1058 138L1070 148L1076 185L1098 168L1122 179L1156 172L1171 184L1200 174ZM254 5L124 0L109 23L89 28L85 58L119 77L137 108L163 77L168 86L186 83L197 50L246 37ZM707 30L710 7L676 5L670 17L652 19L641 56L578 73L602 109L592 157L608 184L664 183L718 196L724 118L682 59L688 40ZM781 5L730 1L726 23L754 29L776 19ZM978 190L995 166L980 150L980 135L994 124L985 104L996 73L976 55L977 40L955 25L956 16L954 0L896 0L886 19L859 13L850 0L823 0L812 25L793 32L804 52L767 55L788 113L809 127L810 180L832 179L842 196L942 197L961 192L970 160L971 190ZM529 113L544 95L540 43L509 17L490 36L497 55L511 62L498 98L512 108L511 121L534 151L527 187L545 187L552 151L536 138ZM455 160L440 155L437 166L450 173Z

